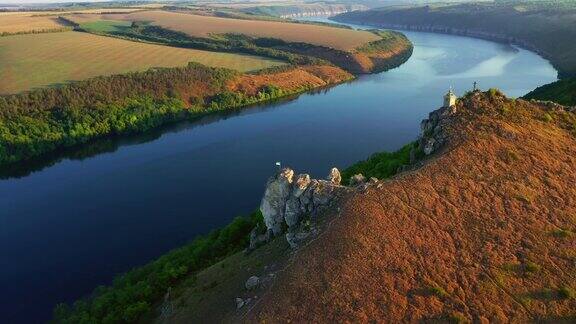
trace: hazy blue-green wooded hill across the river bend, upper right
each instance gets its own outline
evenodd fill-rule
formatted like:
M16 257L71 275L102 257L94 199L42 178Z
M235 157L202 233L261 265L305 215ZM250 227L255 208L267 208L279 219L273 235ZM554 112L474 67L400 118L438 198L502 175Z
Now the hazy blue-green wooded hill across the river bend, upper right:
M349 12L334 20L510 41L540 52L557 68L560 77L576 76L574 1L392 6Z

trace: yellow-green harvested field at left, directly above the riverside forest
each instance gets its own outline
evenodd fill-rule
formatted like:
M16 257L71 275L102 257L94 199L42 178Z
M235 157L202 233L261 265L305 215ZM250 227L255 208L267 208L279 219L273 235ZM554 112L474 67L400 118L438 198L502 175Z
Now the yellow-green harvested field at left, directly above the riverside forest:
M131 42L78 32L0 38L0 94L87 78L197 62L238 71L284 64L251 55Z

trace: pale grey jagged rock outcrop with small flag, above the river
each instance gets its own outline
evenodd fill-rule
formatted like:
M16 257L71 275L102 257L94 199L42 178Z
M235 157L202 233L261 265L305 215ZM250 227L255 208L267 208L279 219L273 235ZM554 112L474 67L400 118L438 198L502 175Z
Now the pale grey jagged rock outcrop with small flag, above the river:
M279 170L268 180L260 204L266 229L273 235L280 235L286 229L294 232L304 217L315 216L350 190L340 185L341 180L336 168L330 170L327 180L311 179L308 174L295 176L290 168Z

